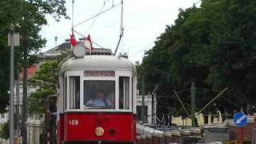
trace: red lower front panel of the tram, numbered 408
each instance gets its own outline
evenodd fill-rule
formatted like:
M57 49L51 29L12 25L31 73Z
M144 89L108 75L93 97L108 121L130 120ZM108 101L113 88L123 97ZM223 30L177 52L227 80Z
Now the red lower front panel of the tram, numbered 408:
M64 141L135 142L135 124L134 115L126 113L64 114ZM96 128L102 135L97 136Z

